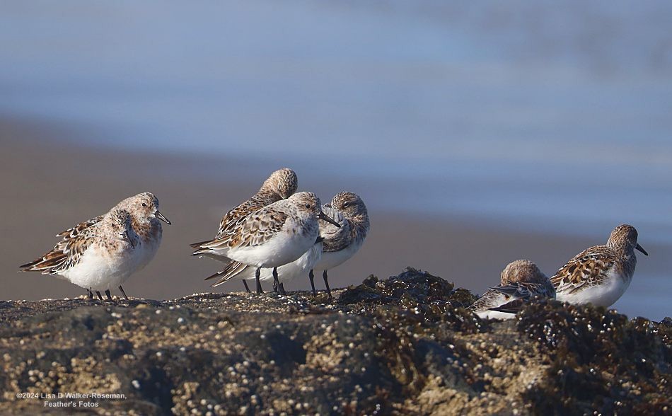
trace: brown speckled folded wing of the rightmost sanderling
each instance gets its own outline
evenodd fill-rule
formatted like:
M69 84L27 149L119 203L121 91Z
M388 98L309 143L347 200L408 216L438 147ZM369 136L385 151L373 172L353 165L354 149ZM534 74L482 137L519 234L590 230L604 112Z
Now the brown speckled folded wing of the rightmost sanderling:
M572 294L588 286L600 284L614 266L618 255L606 245L596 245L574 256L551 277L557 292Z

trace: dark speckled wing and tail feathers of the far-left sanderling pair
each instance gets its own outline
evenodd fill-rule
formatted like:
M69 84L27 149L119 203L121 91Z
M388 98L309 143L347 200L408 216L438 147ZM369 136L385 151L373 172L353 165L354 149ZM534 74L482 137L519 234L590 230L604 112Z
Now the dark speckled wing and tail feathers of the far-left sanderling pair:
M71 228L72 231L67 234L64 231L62 233L64 238L50 252L19 267L24 272L37 271L42 272L42 275L56 275L58 272L76 265L81 260L81 255L93 242L97 222L82 228L80 226L86 223L78 224Z

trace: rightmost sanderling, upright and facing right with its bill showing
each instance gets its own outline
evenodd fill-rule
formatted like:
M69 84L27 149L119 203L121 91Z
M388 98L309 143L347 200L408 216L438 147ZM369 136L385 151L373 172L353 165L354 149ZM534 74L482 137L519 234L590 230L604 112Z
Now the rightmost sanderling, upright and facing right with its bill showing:
M616 227L606 245L584 250L551 277L557 300L579 305L589 302L597 306L613 305L632 281L637 265L635 249L649 255L637 243L635 227L627 224Z

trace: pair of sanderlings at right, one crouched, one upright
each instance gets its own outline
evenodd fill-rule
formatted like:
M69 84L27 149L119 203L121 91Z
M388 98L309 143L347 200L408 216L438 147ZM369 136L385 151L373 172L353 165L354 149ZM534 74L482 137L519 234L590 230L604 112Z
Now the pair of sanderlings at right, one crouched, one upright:
M530 260L516 260L504 268L500 284L485 292L470 309L481 318L509 319L535 296L609 307L632 282L635 250L649 255L637 243L635 227L622 224L611 232L605 245L577 254L550 279Z

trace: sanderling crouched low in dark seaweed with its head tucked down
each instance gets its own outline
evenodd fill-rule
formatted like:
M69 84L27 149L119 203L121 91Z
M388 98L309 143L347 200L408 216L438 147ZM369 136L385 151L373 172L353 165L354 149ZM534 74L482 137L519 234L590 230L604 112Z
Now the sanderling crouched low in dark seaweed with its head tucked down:
M533 296L554 299L555 288L533 262L516 260L502 270L499 286L491 287L469 309L480 318L510 319Z

